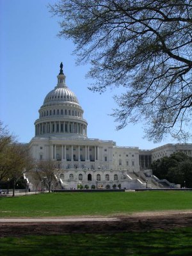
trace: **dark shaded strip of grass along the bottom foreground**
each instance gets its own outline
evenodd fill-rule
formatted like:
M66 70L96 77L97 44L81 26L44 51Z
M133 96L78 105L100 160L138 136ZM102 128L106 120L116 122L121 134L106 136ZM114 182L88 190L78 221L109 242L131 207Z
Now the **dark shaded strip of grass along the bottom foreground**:
M166 232L4 237L0 239L0 255L191 256L191 234L192 228L178 228Z

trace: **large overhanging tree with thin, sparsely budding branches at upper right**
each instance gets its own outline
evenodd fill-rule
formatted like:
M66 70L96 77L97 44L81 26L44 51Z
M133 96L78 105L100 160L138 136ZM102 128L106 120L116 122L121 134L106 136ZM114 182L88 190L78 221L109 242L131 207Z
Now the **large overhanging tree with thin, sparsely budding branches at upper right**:
M149 140L189 138L191 0L60 0L50 12L76 44L77 63L92 64L90 90L122 86L117 129L143 120Z

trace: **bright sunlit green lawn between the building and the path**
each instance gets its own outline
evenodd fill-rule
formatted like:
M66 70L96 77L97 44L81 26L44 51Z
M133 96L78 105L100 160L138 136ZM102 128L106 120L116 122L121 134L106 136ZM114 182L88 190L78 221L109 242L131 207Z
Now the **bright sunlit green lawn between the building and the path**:
M0 198L0 218L115 215L192 209L191 191L50 193Z

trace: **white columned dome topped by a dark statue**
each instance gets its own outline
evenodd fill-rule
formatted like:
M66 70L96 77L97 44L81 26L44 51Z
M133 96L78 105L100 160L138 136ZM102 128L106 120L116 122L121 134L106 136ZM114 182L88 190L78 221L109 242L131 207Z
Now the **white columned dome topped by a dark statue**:
M76 95L68 89L60 65L58 84L49 92L35 121L35 136L87 138L87 122Z

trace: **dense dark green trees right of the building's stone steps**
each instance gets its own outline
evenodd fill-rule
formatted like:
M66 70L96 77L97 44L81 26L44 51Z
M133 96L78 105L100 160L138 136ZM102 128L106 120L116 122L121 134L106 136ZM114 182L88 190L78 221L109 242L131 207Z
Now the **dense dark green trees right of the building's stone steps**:
M159 179L167 179L182 187L192 187L192 157L182 152L157 159L152 163L152 170Z

